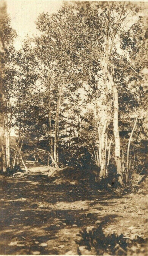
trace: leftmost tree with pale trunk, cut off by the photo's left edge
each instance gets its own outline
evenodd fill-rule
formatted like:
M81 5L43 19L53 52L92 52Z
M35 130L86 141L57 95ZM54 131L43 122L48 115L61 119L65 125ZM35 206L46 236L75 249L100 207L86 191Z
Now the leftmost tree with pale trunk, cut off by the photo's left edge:
M3 111L3 133L2 133L2 156L3 171L10 167L10 130L12 125L13 105L11 97L14 93L15 70L15 48L13 46L16 37L15 30L11 27L10 18L3 12L1 17L1 42L3 51L1 52L1 63L3 63L3 73L1 83L2 89L2 111Z

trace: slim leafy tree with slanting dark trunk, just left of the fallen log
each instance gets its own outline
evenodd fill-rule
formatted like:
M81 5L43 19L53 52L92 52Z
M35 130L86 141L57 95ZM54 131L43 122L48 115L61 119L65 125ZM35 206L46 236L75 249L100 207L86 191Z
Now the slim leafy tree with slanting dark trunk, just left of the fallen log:
M37 87L36 62L33 56L31 41L24 41L22 48L17 52L15 58L15 93L13 95L14 105L14 127L18 132L17 143L15 146L11 169L15 167L26 133L32 131L35 126L37 115L33 112L33 105L36 103L36 94L39 94ZM33 104L34 102L34 104ZM34 115L34 116L33 116ZM32 125L32 119L33 125Z

